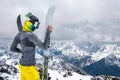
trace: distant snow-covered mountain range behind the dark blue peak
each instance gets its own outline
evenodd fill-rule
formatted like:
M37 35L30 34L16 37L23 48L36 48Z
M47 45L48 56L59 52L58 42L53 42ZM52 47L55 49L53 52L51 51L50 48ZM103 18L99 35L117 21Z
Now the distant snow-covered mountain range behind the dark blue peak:
M115 55L120 58L119 42L79 42L59 41L53 42L51 53L59 55L61 58L82 63L79 67L90 65L109 55ZM86 64L85 64L86 63ZM84 64L84 65L83 65Z

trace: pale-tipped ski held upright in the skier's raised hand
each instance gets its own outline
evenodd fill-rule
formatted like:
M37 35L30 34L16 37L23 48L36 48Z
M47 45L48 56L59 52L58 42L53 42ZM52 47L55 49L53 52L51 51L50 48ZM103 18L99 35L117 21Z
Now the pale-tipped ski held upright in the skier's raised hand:
M55 6L52 5L52 6L49 7L49 9L47 11L46 21L45 21L46 31L47 31L48 25L52 25L54 10L55 10ZM48 48L47 50L44 50L44 63L43 63L44 75L43 75L43 80L48 80L48 59L49 59L49 55L50 55L49 50L50 50L50 48Z

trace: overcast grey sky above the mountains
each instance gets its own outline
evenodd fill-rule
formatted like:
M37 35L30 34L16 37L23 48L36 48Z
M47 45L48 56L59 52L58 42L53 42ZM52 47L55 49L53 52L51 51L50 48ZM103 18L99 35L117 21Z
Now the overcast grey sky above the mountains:
M47 10L55 5L53 40L120 41L120 0L0 0L0 37L14 37L16 18L32 12L40 22L35 31L43 39Z

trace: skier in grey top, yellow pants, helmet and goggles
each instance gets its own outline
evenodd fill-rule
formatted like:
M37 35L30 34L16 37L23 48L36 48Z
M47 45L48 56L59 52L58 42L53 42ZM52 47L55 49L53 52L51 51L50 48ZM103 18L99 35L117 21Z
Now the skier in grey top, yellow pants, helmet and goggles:
M35 61L35 48L38 46L44 50L48 49L50 43L50 33L52 26L48 26L45 40L42 42L33 32L39 27L39 20L32 13L27 14L27 19L22 26L21 15L17 17L17 26L19 33L15 36L10 50L22 53L19 61L20 80L40 80ZM21 49L18 48L21 45Z

